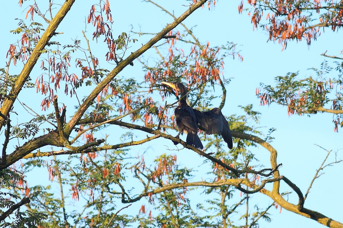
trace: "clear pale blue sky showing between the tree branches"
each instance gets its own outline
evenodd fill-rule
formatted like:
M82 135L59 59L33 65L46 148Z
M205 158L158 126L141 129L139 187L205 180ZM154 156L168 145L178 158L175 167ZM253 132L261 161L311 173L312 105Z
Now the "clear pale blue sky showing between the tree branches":
M76 1L71 12L67 15L67 20L64 20L57 29L57 32L64 32L64 34L58 35L59 39L64 39L65 42L70 42L71 39L76 37L81 39L81 30L84 29L84 16L89 12L91 2L93 1ZM182 4L187 4L186 1L167 2L160 0L156 2L169 11L174 11L176 16L187 9L187 7L182 6ZM240 1L218 1L213 10L199 9L187 18L184 23L188 27L197 25L197 27L193 28L193 32L202 43L210 42L211 45L221 45L231 41L237 43L237 50L240 50L240 54L244 56L244 61L239 62L231 58L225 60L224 76L233 79L226 88L227 102L223 112L227 116L234 113L242 114L243 112L237 107L238 105L253 104L254 109L262 113L261 126L264 126L262 131L267 133L270 128L277 129L272 135L275 137L272 146L278 151L277 161L283 163L280 169L281 174L292 180L303 192L306 192L316 169L326 156L326 151L314 144L333 151L342 149L341 131L343 130L339 129L339 133L334 133L332 115L328 113L311 117L288 117L286 107L277 105L270 107L259 106L260 102L255 95L255 89L259 87L260 82L273 84L274 77L283 76L287 72L299 71L299 78L310 76L312 72L307 69L311 67L319 68L320 63L324 60L324 57L320 56L321 53L328 51L328 54L331 55L339 54L342 49L342 31L332 32L330 29L326 29L326 32L322 33L317 41L313 41L311 46L307 46L306 42L289 42L287 49L281 51L281 45L267 42L268 35L265 31L262 31L262 29L253 31L247 12L238 14L237 6L239 3ZM25 2L24 7L28 4L30 4L30 1ZM152 4L139 0L110 1L110 4L114 21L119 22L114 25L115 31L118 33L122 31L128 32L131 25L136 31L141 27L143 32L158 32L166 23L173 21L170 16ZM9 30L17 27L17 21L14 21L14 18L23 18L27 9L19 8L17 1L5 1L2 7L3 11L0 17L3 22L1 25L3 34L0 58L1 67L4 67L6 52L9 44L13 42L13 36L9 35ZM35 15L35 17L38 17L38 15ZM88 37L90 36L91 33L88 33ZM148 38L143 36L138 39L140 45L145 43ZM130 51L133 50L135 49L133 48ZM144 56L147 58L153 53L153 51L150 51ZM104 57L104 54L102 56ZM332 62L330 59L327 60ZM144 76L142 68L137 61L134 64L135 67L128 67L123 70L119 77L136 76L142 78ZM11 68L11 70L11 74L19 73L15 72L15 68ZM34 71L32 74L33 81L36 79L34 74L38 76L39 72ZM39 105L29 101L36 98L39 101L36 103L40 104L41 98L34 94L32 96L30 94L29 99L27 99L27 96L20 97L22 101L27 102L33 106L34 110L39 112L41 109ZM170 100L169 103L171 102L174 102L174 100ZM69 110L73 105L69 105ZM163 140L159 140L159 143L166 144ZM270 166L268 151L258 148L254 152L265 166ZM190 159L194 163L203 161L202 158L196 158L194 161L194 156L196 155L191 151L182 151L182 154L178 153L178 160L184 164L187 164L186 161ZM342 157L340 153L338 153L338 157ZM194 164L194 167L199 165ZM328 167L325 174L316 180L305 202L305 207L308 209L318 211L339 222L343 222L342 213L338 210L343 203L338 191L343 187L343 184L337 178L337 173L341 169L342 164ZM282 184L282 187L285 187L285 185ZM290 188L284 188L283 190L291 191ZM263 199L266 199L266 201L262 201ZM272 202L268 197L258 194L254 196L254 200L259 201L261 207L266 206L268 202ZM289 200L296 203L297 197L290 197ZM267 204L263 204L265 202ZM137 212L140 205L140 203L137 204ZM322 227L322 225L311 219L286 210L283 210L281 214L279 209L271 209L269 212L273 214L272 222L261 223L261 227L277 226L282 228L303 227L304 225L314 228Z

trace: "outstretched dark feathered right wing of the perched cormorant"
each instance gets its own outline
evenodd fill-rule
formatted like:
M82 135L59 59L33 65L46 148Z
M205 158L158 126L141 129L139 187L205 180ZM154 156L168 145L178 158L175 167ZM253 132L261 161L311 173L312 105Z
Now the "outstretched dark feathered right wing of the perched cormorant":
M229 124L222 111L219 108L213 108L210 111L199 111L193 109L201 130L205 130L206 134L221 134L228 148L232 149L232 136Z

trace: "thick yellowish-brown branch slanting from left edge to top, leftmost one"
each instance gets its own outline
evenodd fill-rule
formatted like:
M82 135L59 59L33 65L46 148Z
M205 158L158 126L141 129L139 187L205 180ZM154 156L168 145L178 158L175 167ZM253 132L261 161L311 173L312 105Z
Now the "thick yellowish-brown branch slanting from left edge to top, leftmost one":
M63 5L61 6L61 9L57 12L54 19L51 20L50 24L46 28L45 32L43 33L42 37L38 40L35 48L33 49L30 57L27 59L27 62L25 66L23 67L23 70L18 75L18 78L15 80L14 85L12 86L12 89L8 96L4 99L2 106L0 108L1 113L4 116L8 116L10 113L10 110L13 107L13 104L23 88L26 80L28 79L33 67L36 65L38 58L40 54L42 53L42 50L45 48L45 46L48 44L50 38L54 36L55 31L63 18L67 15L69 12L71 6L74 4L75 0L68 0L64 1ZM2 125L4 124L5 119L0 116L0 130L2 128Z

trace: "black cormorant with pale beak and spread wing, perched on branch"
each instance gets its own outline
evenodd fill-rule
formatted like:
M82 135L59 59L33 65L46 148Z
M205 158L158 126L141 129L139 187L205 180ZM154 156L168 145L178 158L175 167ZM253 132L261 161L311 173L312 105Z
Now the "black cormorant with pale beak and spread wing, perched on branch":
M198 136L198 124L201 130L206 134L221 134L228 148L232 149L232 136L229 124L219 108L213 108L210 111L199 111L191 108L187 104L187 89L180 82L162 82L180 93L179 106L175 109L176 124L180 132L175 137L179 137L181 132L187 133L186 142L196 148L203 149L200 138Z

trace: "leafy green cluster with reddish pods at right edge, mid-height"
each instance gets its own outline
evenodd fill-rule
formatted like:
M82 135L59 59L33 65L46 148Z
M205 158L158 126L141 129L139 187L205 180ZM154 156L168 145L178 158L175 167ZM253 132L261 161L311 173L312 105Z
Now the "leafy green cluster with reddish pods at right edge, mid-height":
M333 68L324 61L319 69L311 68L312 75L304 79L299 78L299 72L275 77L275 86L261 83L256 95L262 105L275 102L288 107L288 115L332 112L334 130L338 131L343 119L343 81L342 66L339 63L336 65L332 72Z

